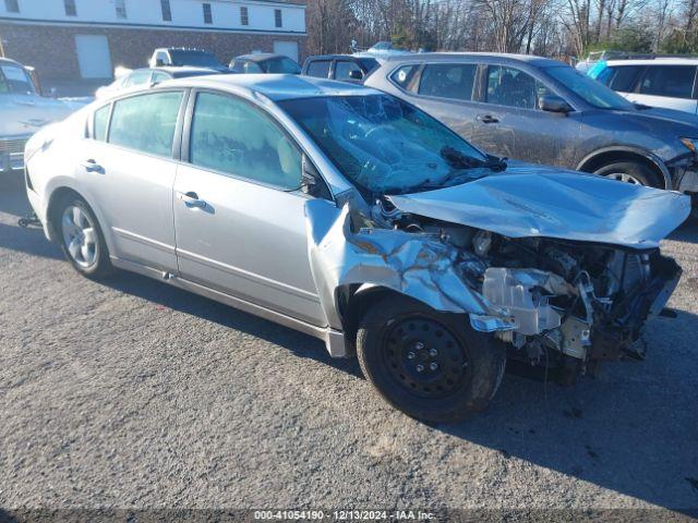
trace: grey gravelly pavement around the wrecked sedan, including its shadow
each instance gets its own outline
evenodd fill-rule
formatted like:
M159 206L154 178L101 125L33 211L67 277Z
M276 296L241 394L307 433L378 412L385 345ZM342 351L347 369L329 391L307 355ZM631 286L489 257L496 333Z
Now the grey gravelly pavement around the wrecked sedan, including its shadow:
M39 230L16 227L27 204L5 182L5 516L19 507L696 515L696 226L665 242L685 271L670 303L678 317L651 321L646 361L607 364L573 389L506 376L488 412L429 426L304 335L140 276L81 278Z

